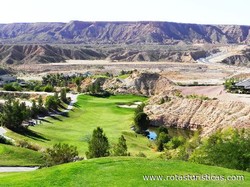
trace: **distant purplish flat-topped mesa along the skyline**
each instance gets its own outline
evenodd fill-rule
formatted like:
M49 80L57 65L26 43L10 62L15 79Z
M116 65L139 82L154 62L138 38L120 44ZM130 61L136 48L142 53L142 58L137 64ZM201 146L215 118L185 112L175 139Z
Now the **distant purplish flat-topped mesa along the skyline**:
M0 24L1 44L250 43L250 26L174 22Z

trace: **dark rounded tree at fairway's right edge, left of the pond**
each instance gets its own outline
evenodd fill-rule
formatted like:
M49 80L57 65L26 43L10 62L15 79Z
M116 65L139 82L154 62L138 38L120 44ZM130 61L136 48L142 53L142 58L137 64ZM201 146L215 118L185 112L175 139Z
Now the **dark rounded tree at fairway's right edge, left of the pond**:
M150 125L148 115L144 112L139 112L134 118L135 130L137 133L143 133Z

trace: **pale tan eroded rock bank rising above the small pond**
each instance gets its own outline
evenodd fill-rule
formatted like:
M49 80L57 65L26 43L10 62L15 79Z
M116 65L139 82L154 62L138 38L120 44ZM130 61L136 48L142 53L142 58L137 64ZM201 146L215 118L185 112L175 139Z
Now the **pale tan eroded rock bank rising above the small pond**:
M250 106L244 103L172 96L171 100L160 104L160 99L164 96L165 94L161 94L152 97L144 109L152 125L191 130L202 128L203 136L229 126L250 128Z

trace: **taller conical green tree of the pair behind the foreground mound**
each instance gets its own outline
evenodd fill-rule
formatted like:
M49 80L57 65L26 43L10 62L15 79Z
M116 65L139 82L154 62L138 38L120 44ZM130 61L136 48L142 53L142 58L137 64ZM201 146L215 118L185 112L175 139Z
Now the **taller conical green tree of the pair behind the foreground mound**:
M88 158L98 158L109 156L109 142L102 128L97 127L93 131L89 142L89 151L86 152Z

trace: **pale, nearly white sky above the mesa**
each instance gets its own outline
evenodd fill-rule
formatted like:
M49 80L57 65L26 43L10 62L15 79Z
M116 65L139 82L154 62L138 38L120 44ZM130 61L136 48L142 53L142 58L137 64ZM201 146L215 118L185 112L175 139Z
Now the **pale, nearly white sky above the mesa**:
M4 0L0 23L173 21L250 25L250 0Z

